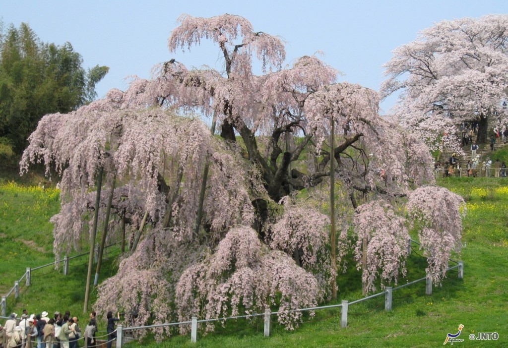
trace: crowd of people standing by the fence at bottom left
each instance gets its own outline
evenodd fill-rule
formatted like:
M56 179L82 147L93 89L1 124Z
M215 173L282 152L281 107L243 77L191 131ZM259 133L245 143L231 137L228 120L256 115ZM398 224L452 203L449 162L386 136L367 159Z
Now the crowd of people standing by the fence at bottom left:
M115 322L120 319L119 313L116 318L112 312L108 312L108 341L107 347L111 348L112 341L116 338ZM97 320L96 312L89 315L88 324L84 331L79 326L79 319L71 317L70 311L61 315L54 312L54 317L49 318L48 312L28 315L26 309L20 318L12 313L5 322L0 324L0 348L78 348L78 340L86 337L87 346L97 345ZM79 346L83 346L83 343Z

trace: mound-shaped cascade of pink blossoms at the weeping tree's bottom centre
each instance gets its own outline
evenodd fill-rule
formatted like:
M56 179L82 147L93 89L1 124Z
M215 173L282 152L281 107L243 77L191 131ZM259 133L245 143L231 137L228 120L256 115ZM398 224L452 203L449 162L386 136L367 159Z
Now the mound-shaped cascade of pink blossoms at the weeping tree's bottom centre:
M187 268L176 286L179 320L256 313L278 304L278 321L292 330L302 315L291 310L319 300L315 277L284 253L269 251L246 226L231 229L217 251Z

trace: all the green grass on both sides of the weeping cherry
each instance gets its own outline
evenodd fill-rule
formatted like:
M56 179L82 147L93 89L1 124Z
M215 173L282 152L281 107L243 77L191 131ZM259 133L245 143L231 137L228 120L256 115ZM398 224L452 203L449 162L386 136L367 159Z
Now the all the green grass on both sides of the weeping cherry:
M457 270L448 272L441 287L425 295L425 282L393 293L393 310L384 310L384 296L353 304L348 310L348 325L340 327L340 308L316 311L314 318L293 332L277 325L272 316L270 337L263 336L262 318L229 321L214 333L198 333L197 343L189 335L174 335L157 343L150 337L128 346L144 347L435 347L442 346L447 333L464 325L454 346L508 346L508 181L498 178L449 178L439 184L467 200L463 243L464 279ZM51 190L0 183L0 293L5 294L27 266L53 261L51 224L48 219L58 211L58 198ZM12 186L12 185L11 185ZM85 250L86 251L86 250ZM412 253L408 261L409 281L424 276L425 260ZM101 280L115 272L114 247L109 252ZM8 299L8 312L27 308L29 312L70 309L82 314L87 257L71 261L70 274L64 276L53 267L32 272L30 287L21 296ZM339 279L339 301L362 297L359 273L350 271ZM400 280L399 285L406 280ZM92 293L92 300L94 293ZM78 316L79 317L79 316ZM83 317L81 315L81 317ZM84 326L83 321L81 321ZM104 329L104 323L100 329ZM497 332L497 341L470 341L469 334Z

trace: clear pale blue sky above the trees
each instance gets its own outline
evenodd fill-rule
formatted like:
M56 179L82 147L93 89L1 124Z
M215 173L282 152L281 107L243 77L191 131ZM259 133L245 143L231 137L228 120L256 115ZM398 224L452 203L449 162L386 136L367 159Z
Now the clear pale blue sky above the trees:
M126 89L126 77L149 78L154 64L171 58L187 67L221 67L211 45L169 53L167 39L182 13L243 16L255 30L288 43L287 63L322 51L321 59L344 73L339 80L378 90L391 51L414 40L419 30L444 19L503 13L507 5L505 0L0 0L0 17L15 26L28 23L44 42L69 41L87 68L109 66L97 86L102 97L111 88ZM394 101L387 99L382 109L388 111Z

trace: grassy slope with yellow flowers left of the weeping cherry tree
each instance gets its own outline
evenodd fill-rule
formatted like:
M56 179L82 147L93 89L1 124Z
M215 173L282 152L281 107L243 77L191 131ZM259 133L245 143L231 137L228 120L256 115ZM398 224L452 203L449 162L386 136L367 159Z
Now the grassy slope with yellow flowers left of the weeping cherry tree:
M48 182L34 186L27 184L27 179L21 180L21 184L0 180L0 294L3 296L21 278L26 267L49 264L55 259L53 226L49 219L59 211L59 191ZM118 249L112 247L105 251L108 259L103 263L101 280L116 271L114 257L119 255ZM25 287L23 280L20 297L16 301L14 295L7 298L7 315L12 311L20 314L24 308L29 313L46 310L50 314L69 309L71 314L78 317L81 314L83 318L87 264L88 256L72 259L67 276L62 274L61 267L55 269L53 265L33 270L31 286ZM92 301L94 296L92 293Z

